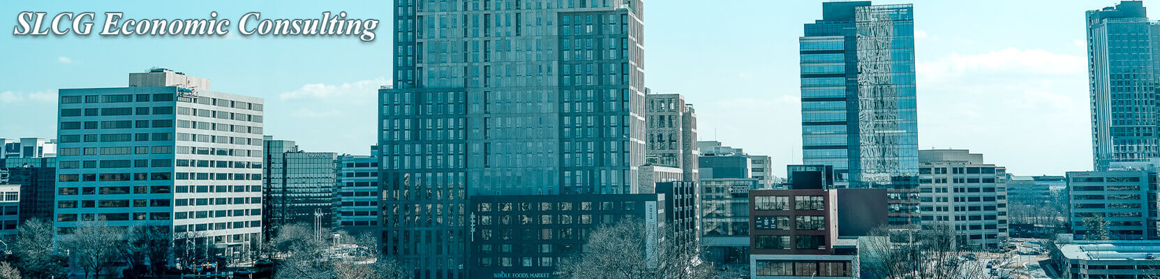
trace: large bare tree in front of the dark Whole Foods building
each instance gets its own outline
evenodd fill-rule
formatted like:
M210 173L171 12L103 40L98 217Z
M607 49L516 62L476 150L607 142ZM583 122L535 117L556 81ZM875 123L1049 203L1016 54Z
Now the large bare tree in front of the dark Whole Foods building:
M696 250L675 243L674 233L661 228L655 235L643 223L624 219L596 229L581 252L564 260L560 278L711 278L712 269Z

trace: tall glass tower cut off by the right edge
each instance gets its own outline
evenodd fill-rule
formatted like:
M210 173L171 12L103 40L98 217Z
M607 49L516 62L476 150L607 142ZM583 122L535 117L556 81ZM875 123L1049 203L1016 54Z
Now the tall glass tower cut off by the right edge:
M1122 1L1086 16L1095 169L1160 157L1155 101L1160 25L1148 22L1141 1Z

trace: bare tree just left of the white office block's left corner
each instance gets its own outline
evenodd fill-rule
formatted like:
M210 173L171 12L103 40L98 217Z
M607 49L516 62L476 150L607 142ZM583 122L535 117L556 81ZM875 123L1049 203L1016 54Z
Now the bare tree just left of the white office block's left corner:
M64 277L65 258L56 254L52 235L52 223L41 219L26 220L17 229L16 241L12 243L13 254L16 267L23 270L28 278Z

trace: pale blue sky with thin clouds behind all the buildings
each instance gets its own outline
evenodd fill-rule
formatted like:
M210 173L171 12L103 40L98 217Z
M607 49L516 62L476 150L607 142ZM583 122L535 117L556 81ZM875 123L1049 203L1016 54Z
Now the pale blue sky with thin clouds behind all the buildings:
M393 1L17 1L16 14L123 12L128 19L377 19L378 38L17 37L0 35L0 138L56 137L58 88L123 87L167 67L216 91L266 98L266 133L314 152L369 154L375 90L391 80ZM651 0L645 83L697 109L702 140L800 162L797 38L821 1ZM901 3L906 1L875 1ZM969 148L1017 175L1092 166L1083 12L1116 1L911 1L921 148ZM1146 7L1160 1L1145 1ZM1157 6L1160 7L1160 6ZM1155 17L1155 16L1154 16ZM97 20L103 20L99 15Z

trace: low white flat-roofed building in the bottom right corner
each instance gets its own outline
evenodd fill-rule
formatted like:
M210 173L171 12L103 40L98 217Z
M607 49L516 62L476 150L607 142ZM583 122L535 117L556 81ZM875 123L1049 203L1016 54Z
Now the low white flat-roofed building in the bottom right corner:
M1155 278L1160 241L1076 241L1058 247L1064 279Z

